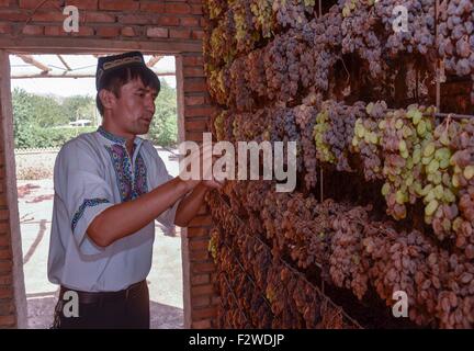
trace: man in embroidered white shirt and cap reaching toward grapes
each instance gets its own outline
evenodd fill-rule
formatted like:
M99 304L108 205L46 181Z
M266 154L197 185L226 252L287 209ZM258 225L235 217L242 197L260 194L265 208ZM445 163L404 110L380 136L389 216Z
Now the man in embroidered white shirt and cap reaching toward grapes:
M149 328L154 220L187 226L219 183L172 179L151 143L137 137L148 132L160 90L140 53L99 58L95 84L102 125L68 141L55 163L54 327Z

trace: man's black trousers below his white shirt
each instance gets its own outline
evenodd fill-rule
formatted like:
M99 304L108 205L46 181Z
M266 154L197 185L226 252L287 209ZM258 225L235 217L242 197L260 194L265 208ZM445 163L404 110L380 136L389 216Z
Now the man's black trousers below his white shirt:
M79 296L77 317L70 316L70 293L64 296L67 292ZM149 329L149 293L144 281L116 294L61 288L53 329Z

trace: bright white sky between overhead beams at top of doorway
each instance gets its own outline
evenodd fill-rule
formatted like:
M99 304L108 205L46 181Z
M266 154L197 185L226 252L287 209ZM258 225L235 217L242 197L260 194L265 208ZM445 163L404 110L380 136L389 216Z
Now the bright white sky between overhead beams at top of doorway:
M34 59L47 65L53 72L61 73L66 70L56 55L33 55ZM63 55L66 63L77 73L95 73L97 57L92 55ZM150 56L145 56L145 61L148 61ZM34 66L25 64L20 57L10 55L11 76L24 73L40 73L41 70ZM155 65L155 71L174 71L174 56L165 56L158 64ZM160 77L165 79L169 86L176 88L176 77ZM55 94L60 97L71 95L95 95L94 78L29 78L29 79L12 79L11 89L22 88L31 93L36 94Z

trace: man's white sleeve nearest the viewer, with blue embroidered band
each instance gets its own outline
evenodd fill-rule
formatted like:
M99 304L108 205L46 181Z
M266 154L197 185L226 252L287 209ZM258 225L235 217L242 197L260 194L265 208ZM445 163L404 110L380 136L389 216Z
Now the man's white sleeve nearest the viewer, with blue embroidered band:
M113 206L111 185L101 176L95 151L83 140L66 144L55 163L55 192L64 202L69 226L83 253L98 253L99 247L87 237L92 220ZM98 250L91 250L95 247Z

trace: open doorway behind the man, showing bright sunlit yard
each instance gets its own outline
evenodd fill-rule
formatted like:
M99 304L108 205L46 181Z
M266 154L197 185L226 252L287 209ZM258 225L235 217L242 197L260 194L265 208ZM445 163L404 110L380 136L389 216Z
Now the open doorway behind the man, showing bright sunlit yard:
M105 54L101 54L105 55ZM101 123L94 105L99 55L10 55L19 217L30 328L48 328L57 286L47 280L53 167L59 147ZM145 56L161 81L150 139L170 174L178 174L178 107L173 56ZM180 229L157 224L148 275L151 328L182 328ZM166 282L163 284L162 282Z

